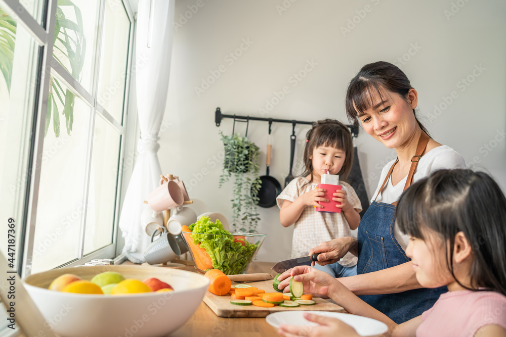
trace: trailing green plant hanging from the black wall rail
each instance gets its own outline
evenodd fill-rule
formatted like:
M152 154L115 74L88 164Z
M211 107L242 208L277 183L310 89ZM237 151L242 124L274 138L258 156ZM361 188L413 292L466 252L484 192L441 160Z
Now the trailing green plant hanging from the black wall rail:
M257 232L258 191L261 186L258 160L260 148L247 137L239 134L225 135L220 131L225 157L223 172L220 176L220 187L233 178L232 230Z

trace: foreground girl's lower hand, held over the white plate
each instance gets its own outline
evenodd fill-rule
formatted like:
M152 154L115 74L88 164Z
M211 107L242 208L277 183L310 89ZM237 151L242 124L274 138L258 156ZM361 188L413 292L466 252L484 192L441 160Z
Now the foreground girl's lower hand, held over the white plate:
M340 321L337 318L330 318L316 314L304 313L304 318L308 321L318 323L317 326L295 326L282 324L279 327L279 334L292 337L292 336L359 336L357 331L350 325Z

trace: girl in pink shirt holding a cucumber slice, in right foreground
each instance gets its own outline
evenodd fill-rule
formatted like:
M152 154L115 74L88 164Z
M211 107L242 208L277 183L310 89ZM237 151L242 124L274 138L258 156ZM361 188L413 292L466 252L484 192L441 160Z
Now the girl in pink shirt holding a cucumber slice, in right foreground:
M406 254L418 282L449 291L420 316L397 325L325 273L299 266L291 275L306 292L385 322L393 336L506 336L506 198L497 183L482 172L436 171L404 192L397 221L410 237ZM308 327L287 325L279 332L358 336L339 320L306 318L319 323L309 334Z

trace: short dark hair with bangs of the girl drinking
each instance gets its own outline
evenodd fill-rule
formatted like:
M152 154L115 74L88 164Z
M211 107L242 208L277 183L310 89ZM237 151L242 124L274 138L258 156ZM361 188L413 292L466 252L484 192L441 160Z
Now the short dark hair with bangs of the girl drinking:
M311 174L313 181L313 162L311 155L313 149L323 147L333 147L343 150L346 158L343 167L338 172L339 178L346 180L350 174L353 165L353 139L348 127L335 119L322 119L313 123L313 127L306 133L306 147L304 148L304 167L303 177Z

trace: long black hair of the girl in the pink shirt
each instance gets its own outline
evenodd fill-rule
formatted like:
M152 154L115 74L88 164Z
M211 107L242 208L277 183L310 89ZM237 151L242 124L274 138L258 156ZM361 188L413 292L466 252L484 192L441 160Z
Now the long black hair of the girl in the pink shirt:
M396 218L401 231L411 236L425 239L423 229L429 228L443 238L445 252L450 252L446 265L454 278L454 238L463 232L473 255L470 289L506 295L506 198L488 174L436 171L402 194Z

